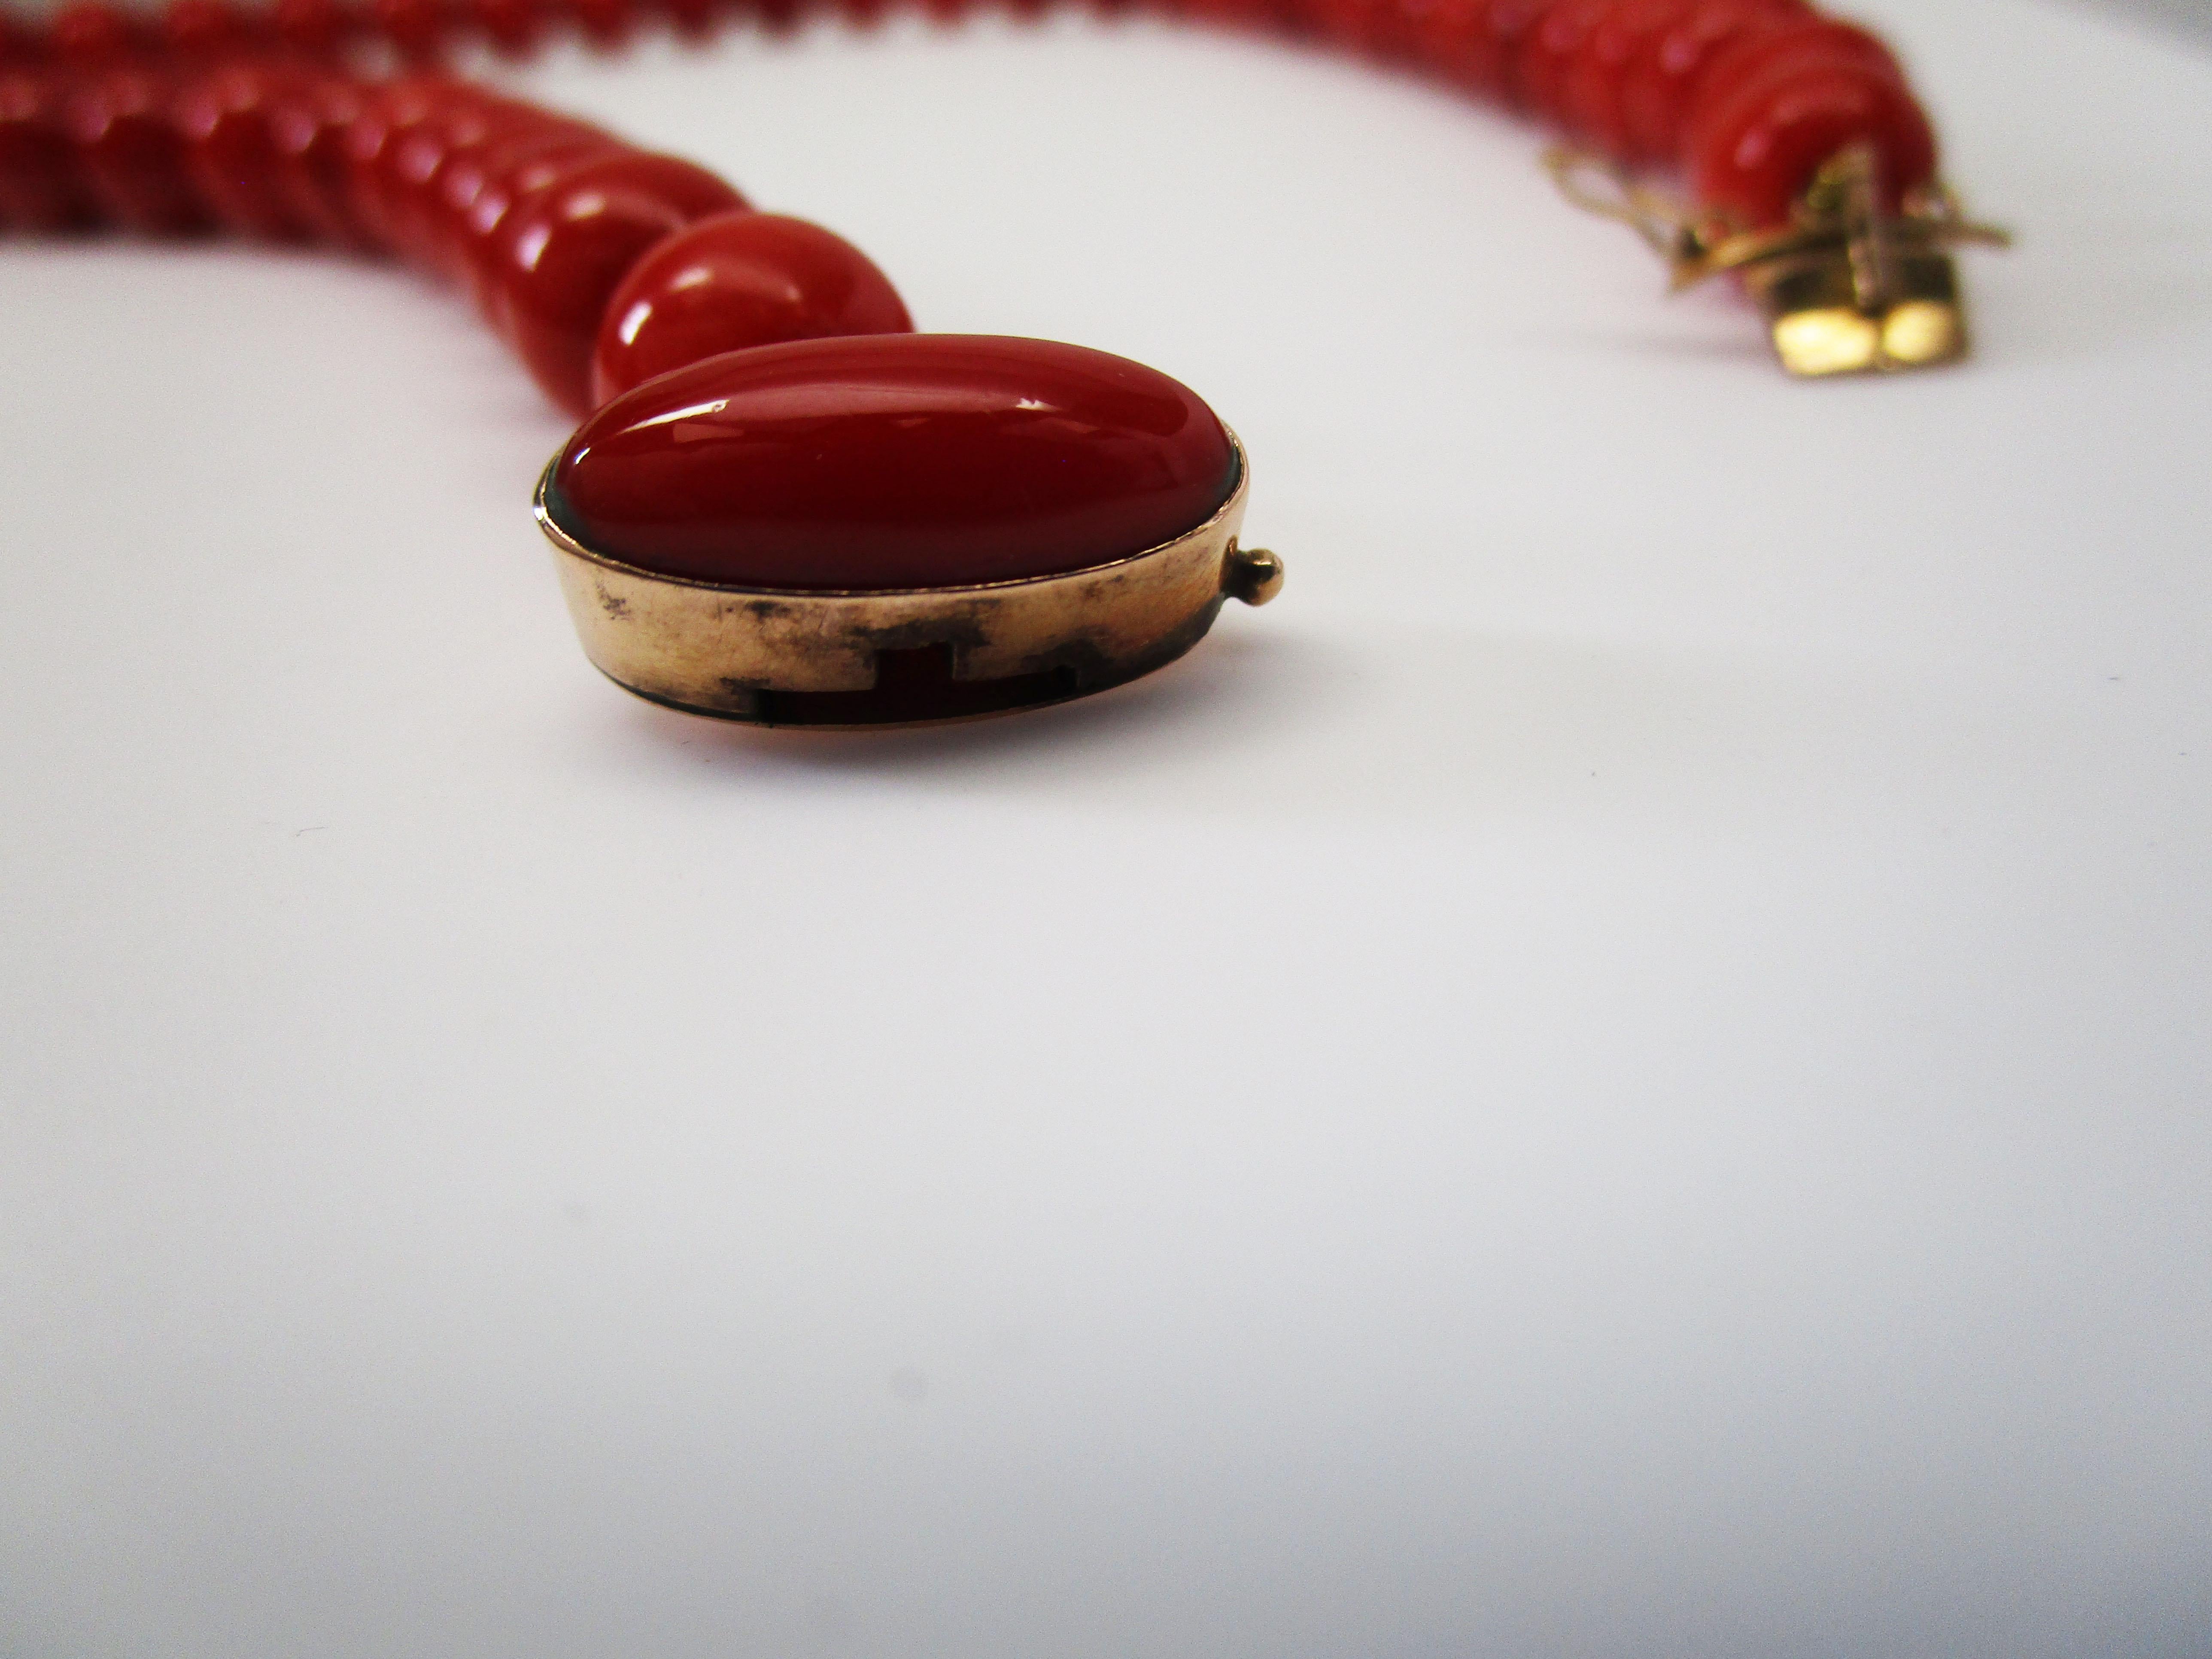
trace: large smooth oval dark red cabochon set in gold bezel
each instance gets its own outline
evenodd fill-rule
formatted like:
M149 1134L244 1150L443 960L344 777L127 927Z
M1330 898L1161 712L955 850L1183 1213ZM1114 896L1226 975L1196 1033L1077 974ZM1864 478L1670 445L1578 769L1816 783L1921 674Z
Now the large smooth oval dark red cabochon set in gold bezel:
M1194 392L1051 341L867 334L664 374L586 420L549 507L588 549L754 588L938 588L1108 564L1237 489Z

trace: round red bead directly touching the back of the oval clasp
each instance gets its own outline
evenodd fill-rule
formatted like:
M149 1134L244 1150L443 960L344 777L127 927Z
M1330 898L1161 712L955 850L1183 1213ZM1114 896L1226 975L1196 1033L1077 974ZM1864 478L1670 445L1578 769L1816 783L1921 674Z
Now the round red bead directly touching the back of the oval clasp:
M591 394L606 403L748 345L911 332L898 290L843 237L776 212L717 212L622 279L599 323Z

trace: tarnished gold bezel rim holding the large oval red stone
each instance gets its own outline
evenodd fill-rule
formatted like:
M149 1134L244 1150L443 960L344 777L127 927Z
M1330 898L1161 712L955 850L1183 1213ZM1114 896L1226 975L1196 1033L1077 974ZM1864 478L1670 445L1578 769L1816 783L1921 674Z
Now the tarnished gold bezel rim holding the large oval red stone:
M1283 564L1243 549L1250 465L1192 531L1110 564L951 588L745 588L611 560L553 518L538 526L593 666L624 690L754 726L876 728L1042 708L1161 668L1223 599L1265 604Z

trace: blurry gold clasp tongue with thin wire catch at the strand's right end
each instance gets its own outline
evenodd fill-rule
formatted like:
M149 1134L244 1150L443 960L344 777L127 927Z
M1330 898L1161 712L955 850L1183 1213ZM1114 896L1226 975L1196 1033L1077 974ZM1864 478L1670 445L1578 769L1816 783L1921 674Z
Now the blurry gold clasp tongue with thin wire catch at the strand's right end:
M1882 212L1876 155L1863 144L1834 155L1774 230L1699 217L1586 150L1553 148L1544 166L1577 208L1635 230L1666 261L1672 292L1736 272L1790 374L1922 369L1964 356L1951 248L2011 246L2008 232L1971 223L1942 186Z

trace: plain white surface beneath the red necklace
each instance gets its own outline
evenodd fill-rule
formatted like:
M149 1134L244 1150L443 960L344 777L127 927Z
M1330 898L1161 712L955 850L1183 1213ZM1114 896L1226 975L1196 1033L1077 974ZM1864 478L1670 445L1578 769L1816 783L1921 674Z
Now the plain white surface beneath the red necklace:
M465 305L0 250L0 1652L2212 1652L2212 55L1869 7L1955 374L1358 66L529 88L1186 378L1265 613L759 734Z

